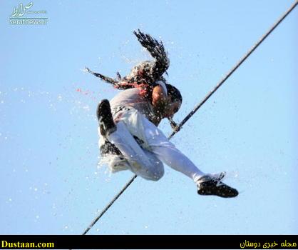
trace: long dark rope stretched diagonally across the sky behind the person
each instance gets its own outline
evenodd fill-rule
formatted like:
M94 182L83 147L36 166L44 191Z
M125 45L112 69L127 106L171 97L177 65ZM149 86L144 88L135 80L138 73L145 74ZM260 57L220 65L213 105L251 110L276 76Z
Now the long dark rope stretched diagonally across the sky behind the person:
M180 124L177 126L177 128L175 129L175 131L173 131L172 134L170 134L170 136L168 137L168 139L171 139L175 134L178 133L178 131L180 131L180 129L182 128L182 126L185 124L186 121L188 121L190 119L191 116L193 116L195 114L195 112L200 109L200 107L205 104L205 102L207 101L207 99L210 98L210 96L212 96L212 94L215 93L215 91L217 91L217 89L220 88L220 86L222 86L222 84L236 71L236 69L239 68L239 66L247 59L248 56L250 56L250 54L252 54L253 51L255 51L255 49L257 49L257 47L262 44L262 41L264 41L264 39L267 38L267 36L269 36L269 34L271 34L271 32L287 17L287 15L297 6L298 4L298 0L294 1L294 4L292 4L292 6L289 7L289 9L277 20L276 23L274 23L272 25L272 27L269 29L269 31L267 31L266 34L264 34L261 39L259 41L257 41L257 43L252 46L252 48L247 52L247 54L245 54L245 56L242 57L242 59L240 59L240 61L237 62L237 64L227 73L227 75L221 79L218 84L215 86L214 89L212 89L212 91L210 91L209 94L207 94L207 96L205 96L204 99L202 99L202 101L197 104L197 106L195 106L194 109L192 109L192 111L190 111L190 114L187 114L187 116L185 117L185 119L183 119L183 121L180 122ZM123 192L128 189L128 186L130 186L130 184L133 183L133 181L135 180L135 178L137 178L137 175L135 174L133 176L132 179L130 179L130 181L128 181L127 184L125 184L125 186L123 186L123 189L120 190L120 192L113 198L113 200L106 206L105 209L103 209L103 211L101 211L101 214L99 214L96 219L94 219L91 224L88 226L88 228L83 232L82 235L85 235L88 233L88 231L94 226L94 224L96 224L96 222L101 219L101 217L103 216L103 214L106 213L106 211L108 211L108 209L113 205L113 203L120 197L121 194L123 194Z

